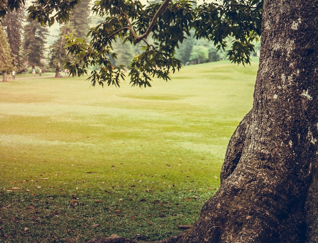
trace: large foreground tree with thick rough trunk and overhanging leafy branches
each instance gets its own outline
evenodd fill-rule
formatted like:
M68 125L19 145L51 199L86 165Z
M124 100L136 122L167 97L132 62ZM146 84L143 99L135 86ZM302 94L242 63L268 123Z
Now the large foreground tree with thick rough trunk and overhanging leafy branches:
M105 55L116 36L138 43L151 35L157 41L131 65L137 85L149 85L152 76L169 79L169 68L180 67L173 54L190 27L220 47L233 36L230 58L248 62L263 9L253 107L230 140L220 188L192 228L161 242L318 242L317 0L264 0L263 6L260 0L231 0L195 11L187 1L165 0L149 8L138 1L96 4L105 22L91 31L90 43L71 40L77 60L69 64L80 75L89 64L104 65L91 74L102 84L118 84L121 75ZM47 20L43 16L40 21Z

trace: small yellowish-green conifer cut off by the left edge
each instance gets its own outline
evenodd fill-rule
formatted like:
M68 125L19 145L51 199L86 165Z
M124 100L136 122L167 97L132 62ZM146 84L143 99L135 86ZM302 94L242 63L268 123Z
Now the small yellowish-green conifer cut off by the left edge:
M13 69L10 45L8 44L7 35L0 24L0 69L2 71L2 81L7 81L7 72Z

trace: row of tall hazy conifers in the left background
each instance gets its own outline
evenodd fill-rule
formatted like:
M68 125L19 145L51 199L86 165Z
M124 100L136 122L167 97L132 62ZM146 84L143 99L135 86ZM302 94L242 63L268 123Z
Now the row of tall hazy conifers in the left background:
M0 68L3 80L6 73L31 72L31 70L56 71L62 68L66 59L65 36L74 34L85 39L89 29L89 0L83 0L73 9L70 19L63 23L53 44L48 45L50 30L33 19L27 19L26 7L10 10L1 18L0 40L3 46L0 53ZM48 48L49 46L49 48Z

